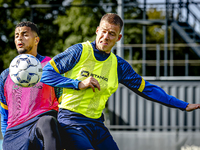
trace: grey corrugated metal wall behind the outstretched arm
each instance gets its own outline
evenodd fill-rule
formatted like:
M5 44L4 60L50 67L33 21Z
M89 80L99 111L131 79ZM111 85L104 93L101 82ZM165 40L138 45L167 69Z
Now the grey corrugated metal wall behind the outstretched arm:
M166 78L166 77L163 77ZM200 78L191 80L171 77L169 80L147 81L160 86L166 93L189 103L200 103ZM199 110L186 112L146 100L120 85L109 101L106 124L112 130L134 131L200 131Z

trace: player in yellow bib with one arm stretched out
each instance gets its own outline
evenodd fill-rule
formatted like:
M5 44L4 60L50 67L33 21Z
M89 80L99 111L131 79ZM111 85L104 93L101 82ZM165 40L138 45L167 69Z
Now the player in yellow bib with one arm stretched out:
M67 150L118 150L103 123L102 111L119 83L169 107L186 111L200 108L200 104L188 104L145 81L128 62L111 52L122 37L122 27L117 14L105 14L96 29L95 41L69 47L43 69L41 82L63 87L58 121L65 131L62 138Z

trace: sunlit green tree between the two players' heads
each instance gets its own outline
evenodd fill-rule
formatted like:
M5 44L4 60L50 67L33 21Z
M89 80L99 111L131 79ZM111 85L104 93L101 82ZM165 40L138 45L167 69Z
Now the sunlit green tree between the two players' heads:
M58 44L63 44L61 47L66 49L73 44L95 39L96 27L109 7L102 7L101 3L103 1L74 0L66 9L66 13L58 16L53 23L59 26ZM110 7L110 12L115 10Z

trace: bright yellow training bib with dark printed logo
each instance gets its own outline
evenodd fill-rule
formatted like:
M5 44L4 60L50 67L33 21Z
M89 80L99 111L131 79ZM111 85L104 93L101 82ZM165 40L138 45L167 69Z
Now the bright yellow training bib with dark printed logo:
M108 98L118 88L117 58L111 52L105 61L98 61L94 56L92 45L88 41L82 45L79 62L64 76L80 81L92 76L98 80L101 90L95 88L93 92L92 88L85 90L64 88L59 107L97 119L101 116Z

